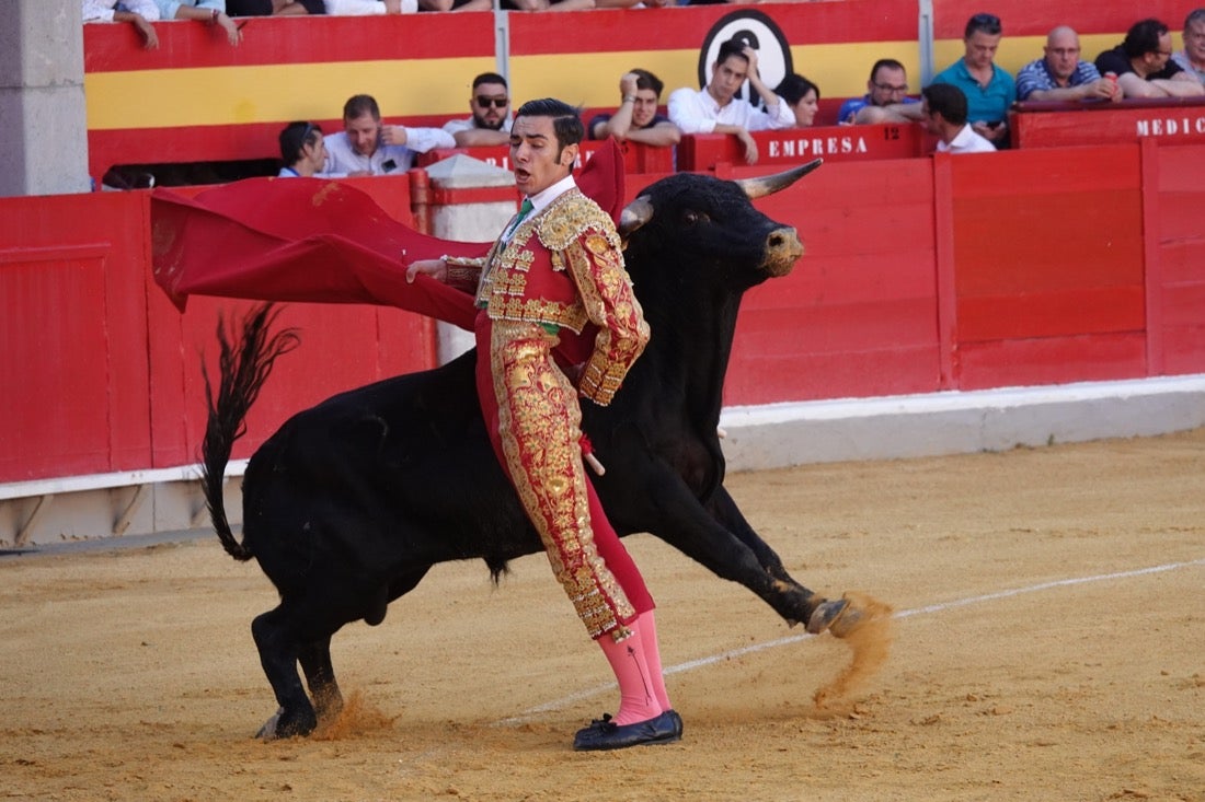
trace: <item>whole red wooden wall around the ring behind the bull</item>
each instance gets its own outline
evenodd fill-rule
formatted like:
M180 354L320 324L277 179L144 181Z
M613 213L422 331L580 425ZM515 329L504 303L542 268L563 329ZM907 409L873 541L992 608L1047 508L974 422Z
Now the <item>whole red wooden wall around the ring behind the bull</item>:
M725 402L1205 372L1201 175L1205 147L1152 141L827 164L757 202L807 253L746 296ZM656 177L629 176L629 196ZM357 183L406 217L405 178ZM143 193L0 200L0 482L195 460L199 354L217 312L247 305L177 313L147 216ZM430 322L402 312L283 319L305 343L237 455L333 393L434 364Z

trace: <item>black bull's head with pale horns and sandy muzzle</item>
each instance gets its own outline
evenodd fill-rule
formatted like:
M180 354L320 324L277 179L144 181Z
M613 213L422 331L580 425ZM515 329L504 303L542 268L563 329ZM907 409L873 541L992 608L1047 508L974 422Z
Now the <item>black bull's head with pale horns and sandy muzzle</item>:
M624 242L656 219L664 230L654 236L663 244L677 242L678 252L690 246L718 264L748 264L756 267L747 284L786 276L804 253L794 228L777 224L754 210L748 201L792 185L822 163L816 159L799 167L760 178L721 182L706 176L678 175L657 182L629 204L619 218ZM733 193L735 184L741 193ZM683 238L684 236L684 238Z

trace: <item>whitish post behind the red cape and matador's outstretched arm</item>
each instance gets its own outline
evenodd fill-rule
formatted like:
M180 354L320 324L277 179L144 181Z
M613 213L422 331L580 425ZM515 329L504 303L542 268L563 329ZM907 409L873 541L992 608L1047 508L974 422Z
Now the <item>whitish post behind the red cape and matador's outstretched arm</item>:
M457 154L427 169L433 194L448 202L431 205L431 234L443 240L487 242L515 216L515 173L480 159ZM494 191L488 191L493 189ZM487 190L477 193L475 190ZM499 191L500 190L500 191ZM471 331L439 324L439 360L448 362L472 348Z

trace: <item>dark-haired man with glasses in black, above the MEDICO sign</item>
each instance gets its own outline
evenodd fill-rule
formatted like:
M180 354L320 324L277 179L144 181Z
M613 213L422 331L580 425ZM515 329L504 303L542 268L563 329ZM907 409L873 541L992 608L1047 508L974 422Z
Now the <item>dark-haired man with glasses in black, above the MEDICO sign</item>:
M1141 19L1125 41L1097 57L1097 70L1117 76L1127 98L1189 98L1205 94L1197 75L1171 60L1171 31L1158 19Z

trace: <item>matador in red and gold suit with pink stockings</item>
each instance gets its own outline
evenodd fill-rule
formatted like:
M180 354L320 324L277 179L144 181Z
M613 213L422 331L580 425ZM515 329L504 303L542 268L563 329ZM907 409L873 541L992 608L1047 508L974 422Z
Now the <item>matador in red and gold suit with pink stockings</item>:
M407 278L476 288L477 394L494 452L619 685L616 715L574 739L594 750L678 741L682 719L662 677L652 596L582 459L578 396L609 403L649 337L615 223L572 178L583 132L568 104L524 104L510 143L519 214L484 258L416 261ZM558 365L563 337L595 329L581 365Z

